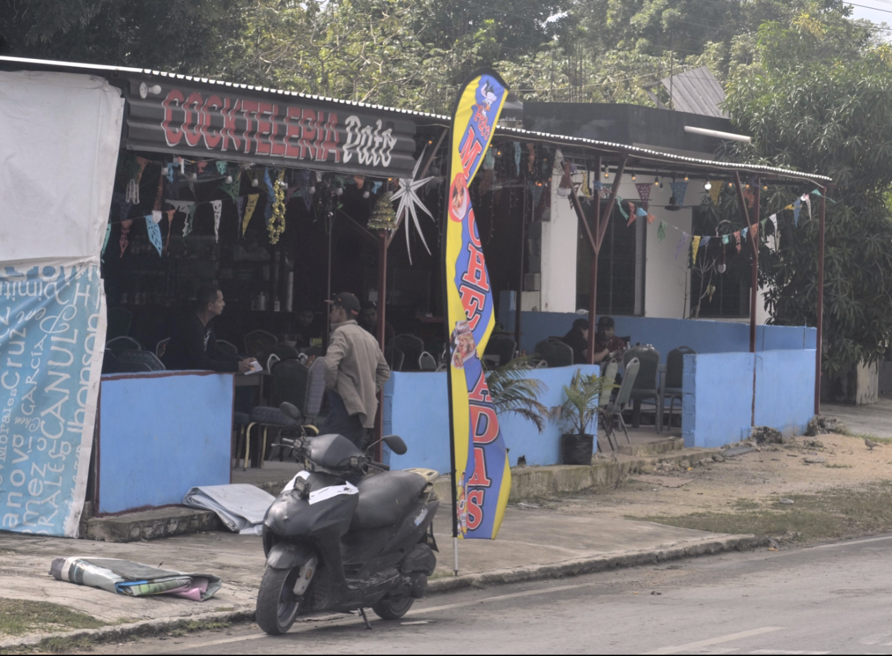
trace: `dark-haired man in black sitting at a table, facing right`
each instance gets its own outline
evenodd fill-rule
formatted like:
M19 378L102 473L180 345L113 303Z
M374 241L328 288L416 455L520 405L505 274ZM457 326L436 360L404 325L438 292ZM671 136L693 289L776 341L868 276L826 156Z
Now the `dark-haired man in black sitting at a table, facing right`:
M180 316L173 325L163 357L168 369L211 369L238 373L251 370L255 358L243 359L217 348L211 319L219 316L224 307L226 302L219 287L202 286L198 289L193 311Z

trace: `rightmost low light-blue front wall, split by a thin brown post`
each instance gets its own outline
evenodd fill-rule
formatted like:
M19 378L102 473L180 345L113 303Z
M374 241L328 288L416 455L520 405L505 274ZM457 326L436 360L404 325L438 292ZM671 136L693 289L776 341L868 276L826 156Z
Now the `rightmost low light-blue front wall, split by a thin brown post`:
M756 369L756 426L801 435L814 414L814 348L684 357L681 434L686 447L749 436Z

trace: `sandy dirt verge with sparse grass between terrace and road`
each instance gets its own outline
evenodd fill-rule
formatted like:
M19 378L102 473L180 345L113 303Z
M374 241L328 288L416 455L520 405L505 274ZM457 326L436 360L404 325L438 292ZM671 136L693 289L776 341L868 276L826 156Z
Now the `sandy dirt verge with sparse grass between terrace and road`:
M527 505L800 544L892 530L892 444L870 450L862 437L820 435L719 460L706 456L690 468L666 463L612 490Z

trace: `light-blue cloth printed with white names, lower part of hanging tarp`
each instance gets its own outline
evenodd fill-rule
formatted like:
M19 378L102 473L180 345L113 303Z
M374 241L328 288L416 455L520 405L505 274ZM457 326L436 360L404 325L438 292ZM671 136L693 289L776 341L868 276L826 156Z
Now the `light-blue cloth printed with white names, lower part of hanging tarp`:
M77 536L104 342L99 266L0 269L0 529Z

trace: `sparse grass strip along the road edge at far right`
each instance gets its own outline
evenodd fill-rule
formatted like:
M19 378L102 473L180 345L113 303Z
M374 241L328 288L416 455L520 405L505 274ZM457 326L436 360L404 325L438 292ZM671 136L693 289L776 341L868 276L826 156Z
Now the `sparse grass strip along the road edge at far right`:
M837 540L892 530L892 481L859 488L831 488L790 495L791 505L742 512L695 512L673 517L635 517L659 524L716 533L778 536L799 533L803 542Z

